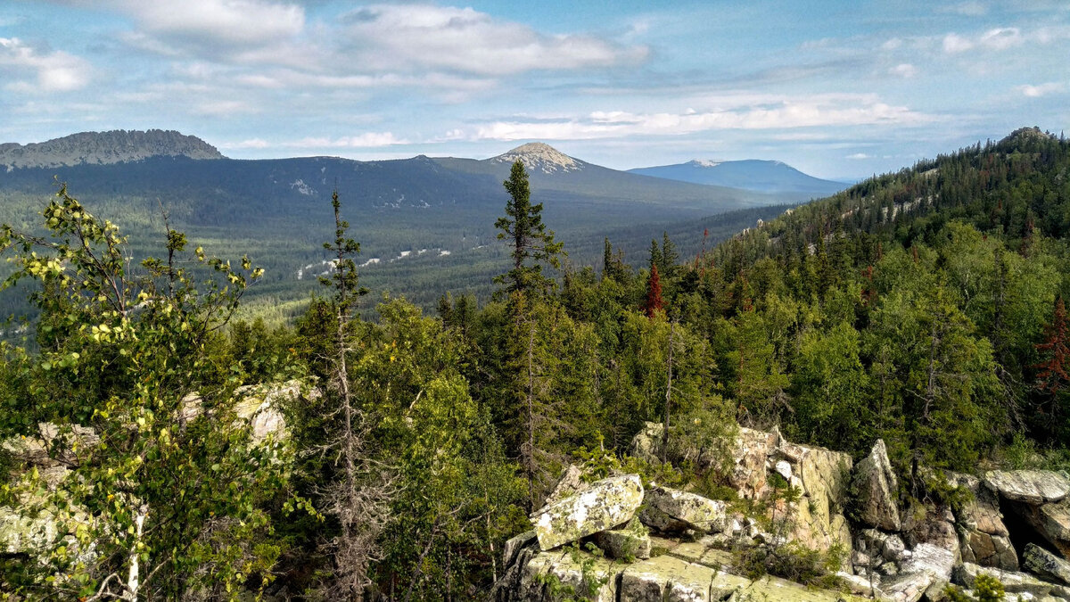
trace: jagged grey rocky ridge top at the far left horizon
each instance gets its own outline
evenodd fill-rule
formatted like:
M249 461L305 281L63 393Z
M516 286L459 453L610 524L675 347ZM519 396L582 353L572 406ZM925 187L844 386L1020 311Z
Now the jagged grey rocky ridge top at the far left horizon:
M0 144L0 166L9 170L16 167L109 165L153 156L224 159L215 147L204 140L170 130L81 132L25 146Z

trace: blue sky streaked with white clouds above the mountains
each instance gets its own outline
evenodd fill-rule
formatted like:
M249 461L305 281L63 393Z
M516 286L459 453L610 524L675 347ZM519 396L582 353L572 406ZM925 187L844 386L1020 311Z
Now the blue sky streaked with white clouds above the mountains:
M1066 0L5 0L0 141L159 127L241 159L614 168L774 159L854 179L1070 130Z

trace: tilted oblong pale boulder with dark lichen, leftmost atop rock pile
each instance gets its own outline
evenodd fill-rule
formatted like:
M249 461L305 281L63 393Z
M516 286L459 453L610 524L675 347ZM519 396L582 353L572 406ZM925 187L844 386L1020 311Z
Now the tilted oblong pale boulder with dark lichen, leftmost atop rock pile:
M610 477L542 508L532 518L544 551L623 525L636 515L643 501L638 475Z

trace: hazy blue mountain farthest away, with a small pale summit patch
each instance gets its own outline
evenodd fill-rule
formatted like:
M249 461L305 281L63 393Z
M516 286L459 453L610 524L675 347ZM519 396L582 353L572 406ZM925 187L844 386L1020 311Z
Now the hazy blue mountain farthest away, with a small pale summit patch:
M631 174L729 186L766 194L793 195L797 199L819 198L832 195L847 187L847 184L822 180L808 176L791 165L779 161L703 161L696 160L676 165L639 167Z

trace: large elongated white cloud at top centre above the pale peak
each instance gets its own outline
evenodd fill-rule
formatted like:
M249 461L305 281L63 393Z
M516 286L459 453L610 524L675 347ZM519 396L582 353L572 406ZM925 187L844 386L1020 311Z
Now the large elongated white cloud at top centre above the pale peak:
M644 46L621 47L590 35L547 35L473 9L379 4L351 13L348 37L377 70L442 69L485 76L633 63Z

